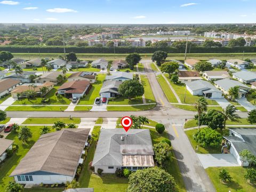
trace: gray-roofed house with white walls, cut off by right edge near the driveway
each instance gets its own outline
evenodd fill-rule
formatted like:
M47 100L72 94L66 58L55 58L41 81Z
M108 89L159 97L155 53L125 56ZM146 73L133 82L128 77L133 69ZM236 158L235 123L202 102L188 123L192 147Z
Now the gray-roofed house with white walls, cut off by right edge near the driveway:
M242 162L242 158L239 153L243 149L250 150L253 155L256 155L256 129L253 128L232 128L229 129L229 135L223 136L226 139L226 145L230 154L232 154L239 165L249 166L249 162L245 160Z

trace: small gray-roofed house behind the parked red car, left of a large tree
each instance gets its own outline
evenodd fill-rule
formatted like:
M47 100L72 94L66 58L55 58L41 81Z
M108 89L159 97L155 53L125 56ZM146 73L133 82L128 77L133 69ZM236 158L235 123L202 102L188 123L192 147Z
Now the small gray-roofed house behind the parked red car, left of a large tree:
M100 89L101 98L111 98L119 95L118 87L121 85L121 81L105 81Z

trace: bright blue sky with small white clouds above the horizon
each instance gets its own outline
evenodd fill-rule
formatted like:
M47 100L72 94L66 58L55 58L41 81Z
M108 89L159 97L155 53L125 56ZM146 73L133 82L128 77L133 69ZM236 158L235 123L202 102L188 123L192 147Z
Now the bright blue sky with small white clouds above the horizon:
M245 23L256 0L0 0L0 23Z

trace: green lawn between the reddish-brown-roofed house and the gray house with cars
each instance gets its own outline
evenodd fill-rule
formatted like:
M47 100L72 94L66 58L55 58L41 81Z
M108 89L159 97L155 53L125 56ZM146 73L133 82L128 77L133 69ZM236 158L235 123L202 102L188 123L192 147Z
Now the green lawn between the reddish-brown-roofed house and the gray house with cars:
M105 79L106 74L98 74L97 81L92 84L92 89L90 90L89 94L87 94L84 98L80 99L78 105L93 105L94 100L97 97L100 97L100 89Z

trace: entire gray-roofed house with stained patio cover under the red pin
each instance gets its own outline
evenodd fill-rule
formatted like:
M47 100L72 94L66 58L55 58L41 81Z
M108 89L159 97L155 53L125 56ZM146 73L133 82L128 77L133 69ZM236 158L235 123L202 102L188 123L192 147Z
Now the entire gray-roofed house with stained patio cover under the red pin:
M102 129L92 161L95 171L115 173L154 167L154 150L148 129Z

